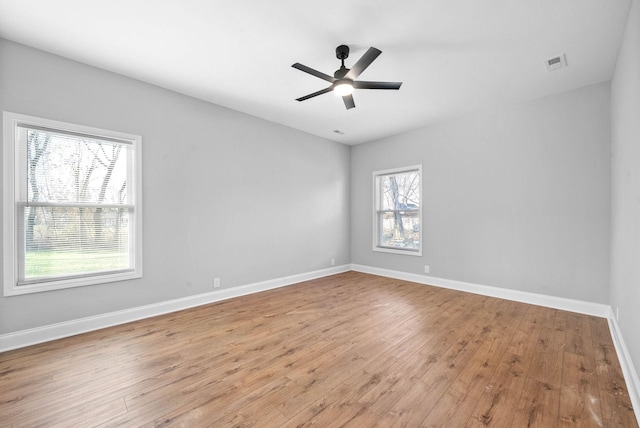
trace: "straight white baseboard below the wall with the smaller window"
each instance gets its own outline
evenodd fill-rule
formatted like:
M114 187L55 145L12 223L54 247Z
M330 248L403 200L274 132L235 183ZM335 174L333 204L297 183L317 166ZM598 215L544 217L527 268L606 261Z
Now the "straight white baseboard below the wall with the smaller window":
M489 285L473 284L470 282L438 278L436 276L419 275L415 273L400 272L358 264L352 264L351 270L370 273L373 275L386 276L389 278L401 279L404 281L417 282L419 284L433 285L435 287L465 291L467 293L480 294L483 296L497 297L500 299L513 300L516 302L529 303L532 305L545 306L548 308L562 309L565 311L594 315L602 318L607 318L610 312L610 308L608 305L603 305L600 303L584 302L581 300L566 299L564 297L554 297L544 294L529 293L526 291L492 287Z

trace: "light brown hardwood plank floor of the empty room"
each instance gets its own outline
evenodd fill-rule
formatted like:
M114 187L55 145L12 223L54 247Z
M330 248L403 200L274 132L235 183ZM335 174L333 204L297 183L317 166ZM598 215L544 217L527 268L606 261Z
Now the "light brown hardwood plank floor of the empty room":
M605 319L347 272L2 353L0 426L637 424Z

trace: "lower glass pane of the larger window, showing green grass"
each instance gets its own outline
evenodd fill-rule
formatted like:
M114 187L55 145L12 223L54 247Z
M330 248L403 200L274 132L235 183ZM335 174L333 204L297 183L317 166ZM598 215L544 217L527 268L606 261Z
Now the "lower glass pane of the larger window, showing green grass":
M24 278L133 269L126 208L25 207Z

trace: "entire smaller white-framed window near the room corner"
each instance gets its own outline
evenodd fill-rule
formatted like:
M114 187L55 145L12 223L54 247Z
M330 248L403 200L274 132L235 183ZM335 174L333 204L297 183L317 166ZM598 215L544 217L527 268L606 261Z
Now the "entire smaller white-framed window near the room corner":
M374 251L422 255L421 176L421 165L373 173Z

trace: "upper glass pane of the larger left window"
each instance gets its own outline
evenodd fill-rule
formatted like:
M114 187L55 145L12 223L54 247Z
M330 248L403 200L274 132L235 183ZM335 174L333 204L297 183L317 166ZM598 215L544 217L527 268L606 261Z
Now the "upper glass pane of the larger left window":
M29 202L128 202L127 144L27 131L27 200Z

